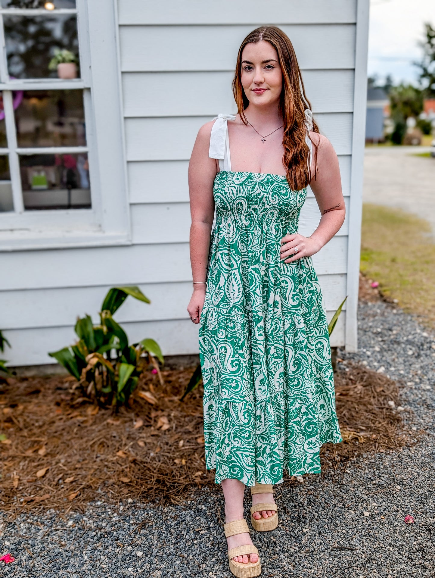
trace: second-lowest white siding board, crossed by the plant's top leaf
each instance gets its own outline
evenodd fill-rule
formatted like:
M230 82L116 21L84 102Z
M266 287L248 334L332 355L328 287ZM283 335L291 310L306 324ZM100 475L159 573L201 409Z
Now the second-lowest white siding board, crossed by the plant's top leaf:
M319 275L318 279L326 309L335 311L345 297L346 276ZM96 286L3 291L2 328L69 327L77 315L83 317L85 314L89 314L94 323L98 323L98 312L109 288ZM185 320L188 317L186 308L192 295L191 281L148 283L142 284L140 288L151 299L151 303L127 298L115 314L119 323ZM21 312L19 317L16 314L18 309Z

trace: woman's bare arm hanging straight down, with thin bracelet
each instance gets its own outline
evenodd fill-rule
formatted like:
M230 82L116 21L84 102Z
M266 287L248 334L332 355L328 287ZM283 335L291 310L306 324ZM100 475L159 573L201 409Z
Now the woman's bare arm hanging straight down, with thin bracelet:
M189 162L192 281L206 281L211 225L213 225L214 217L213 182L217 173L216 161L214 158L209 158L210 133L213 123L214 121L211 121L199 129ZM194 284L192 297L187 306L189 316L195 320L194 323L199 323L205 294L205 284Z

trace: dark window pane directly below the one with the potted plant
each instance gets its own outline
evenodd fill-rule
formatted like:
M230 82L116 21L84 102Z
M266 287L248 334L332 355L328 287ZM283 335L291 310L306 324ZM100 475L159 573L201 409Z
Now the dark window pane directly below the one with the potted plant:
M26 90L15 121L18 147L86 144L81 90Z

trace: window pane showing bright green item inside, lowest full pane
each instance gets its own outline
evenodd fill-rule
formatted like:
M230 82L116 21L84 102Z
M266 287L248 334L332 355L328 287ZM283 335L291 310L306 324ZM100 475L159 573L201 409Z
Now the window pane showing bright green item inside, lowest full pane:
M83 209L91 206L87 154L20 157L25 209Z

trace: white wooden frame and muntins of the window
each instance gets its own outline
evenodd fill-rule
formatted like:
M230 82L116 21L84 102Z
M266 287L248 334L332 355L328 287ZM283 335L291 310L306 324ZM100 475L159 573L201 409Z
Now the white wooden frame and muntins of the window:
M9 155L14 176L14 212L0 213L0 251L131 244L116 2L76 0L76 9L50 13L77 14L81 78L75 80L9 80L3 15L29 13L47 10L0 8L0 90L8 137L0 154ZM18 154L62 153L67 147L17 148L12 91L67 88L83 90L87 146L68 152L88 154L92 207L24 210Z

